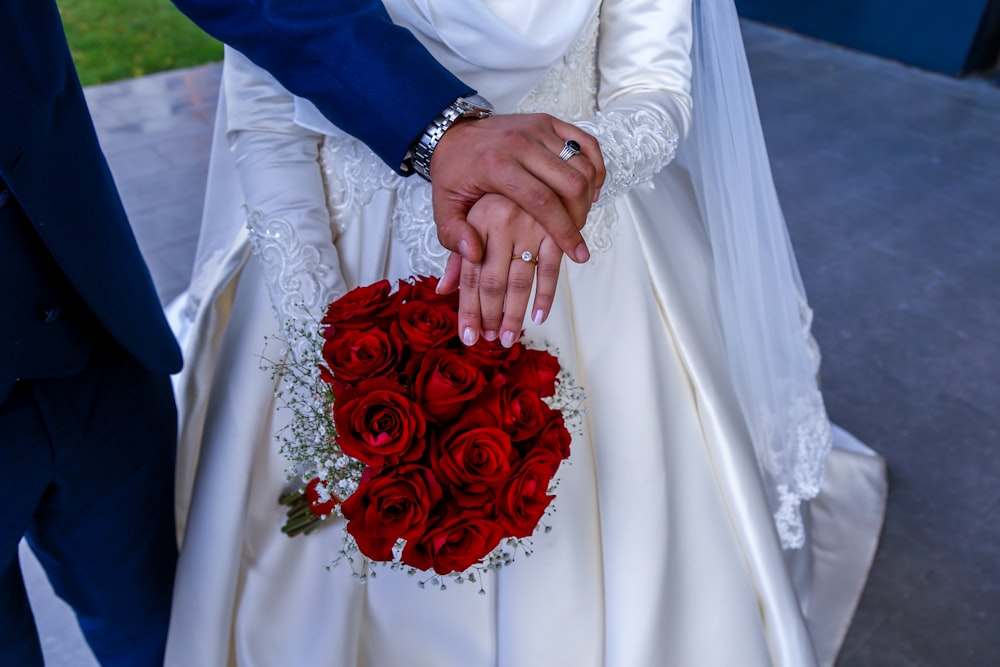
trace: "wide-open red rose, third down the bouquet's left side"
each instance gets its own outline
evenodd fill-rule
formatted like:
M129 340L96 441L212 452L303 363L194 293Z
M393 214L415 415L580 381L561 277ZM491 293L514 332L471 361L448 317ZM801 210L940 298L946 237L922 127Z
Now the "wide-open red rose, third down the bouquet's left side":
M427 421L420 406L391 380L367 380L333 403L341 450L373 468L420 458Z

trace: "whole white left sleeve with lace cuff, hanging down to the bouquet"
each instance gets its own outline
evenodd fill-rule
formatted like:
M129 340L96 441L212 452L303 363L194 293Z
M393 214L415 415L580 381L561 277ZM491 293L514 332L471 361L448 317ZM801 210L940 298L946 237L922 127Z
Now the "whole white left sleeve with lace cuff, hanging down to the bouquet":
M346 291L319 164L321 137L293 122L288 91L234 51L226 53L224 88L250 242L282 334L302 359L327 304Z

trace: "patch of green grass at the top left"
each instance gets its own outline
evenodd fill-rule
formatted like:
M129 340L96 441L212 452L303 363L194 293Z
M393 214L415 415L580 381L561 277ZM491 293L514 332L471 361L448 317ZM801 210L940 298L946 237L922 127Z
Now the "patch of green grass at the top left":
M83 85L222 60L170 0L58 0Z

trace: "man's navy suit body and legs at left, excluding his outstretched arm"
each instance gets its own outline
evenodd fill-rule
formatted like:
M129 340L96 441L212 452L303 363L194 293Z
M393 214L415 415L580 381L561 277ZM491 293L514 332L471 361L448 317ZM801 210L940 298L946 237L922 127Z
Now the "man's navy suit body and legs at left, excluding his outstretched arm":
M103 665L162 664L180 351L55 2L0 24L0 665L42 665L22 536Z

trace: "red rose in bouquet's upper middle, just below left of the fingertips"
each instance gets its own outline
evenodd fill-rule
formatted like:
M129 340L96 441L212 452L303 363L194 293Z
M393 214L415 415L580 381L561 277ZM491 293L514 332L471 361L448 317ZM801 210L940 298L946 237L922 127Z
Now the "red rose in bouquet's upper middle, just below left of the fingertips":
M486 378L461 350L430 350L420 360L413 379L414 397L441 423L454 420L484 389Z

